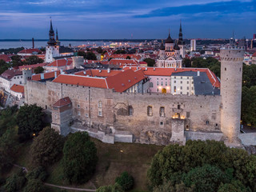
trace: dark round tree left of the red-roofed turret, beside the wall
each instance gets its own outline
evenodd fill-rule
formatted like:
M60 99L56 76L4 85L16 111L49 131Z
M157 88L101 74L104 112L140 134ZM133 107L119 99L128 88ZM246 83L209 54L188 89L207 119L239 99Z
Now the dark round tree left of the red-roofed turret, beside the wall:
M42 107L37 105L21 106L17 114L18 134L24 138L32 138L42 130Z

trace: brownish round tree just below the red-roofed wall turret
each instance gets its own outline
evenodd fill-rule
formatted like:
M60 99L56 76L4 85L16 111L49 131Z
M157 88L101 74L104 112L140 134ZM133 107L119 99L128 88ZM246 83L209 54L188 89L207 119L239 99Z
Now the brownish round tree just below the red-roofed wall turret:
M30 146L30 153L35 165L50 166L62 156L64 139L57 131L50 127L44 128L34 138Z

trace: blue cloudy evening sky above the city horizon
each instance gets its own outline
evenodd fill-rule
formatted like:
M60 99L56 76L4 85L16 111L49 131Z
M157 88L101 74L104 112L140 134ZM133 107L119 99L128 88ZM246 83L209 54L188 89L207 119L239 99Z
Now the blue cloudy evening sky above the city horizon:
M0 0L0 39L252 38L256 0Z

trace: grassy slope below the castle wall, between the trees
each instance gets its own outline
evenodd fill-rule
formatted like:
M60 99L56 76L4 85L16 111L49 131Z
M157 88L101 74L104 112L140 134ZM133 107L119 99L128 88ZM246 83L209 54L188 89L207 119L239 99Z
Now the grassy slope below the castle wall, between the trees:
M134 177L134 192L146 190L146 171L150 167L151 158L163 146L142 145L134 143L107 144L91 138L98 150L98 166L94 177L84 185L74 186L94 189L94 186L114 184L114 179L123 171ZM123 151L121 153L121 150ZM70 186L64 179L61 163L55 163L49 169L50 177L46 182L56 185Z

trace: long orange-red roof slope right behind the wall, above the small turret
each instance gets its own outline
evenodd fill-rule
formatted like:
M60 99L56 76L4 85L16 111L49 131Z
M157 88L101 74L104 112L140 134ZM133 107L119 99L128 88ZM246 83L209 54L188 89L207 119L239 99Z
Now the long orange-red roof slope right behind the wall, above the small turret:
M107 89L105 78L83 77L78 75L60 74L53 82L59 82L77 86L92 86Z

